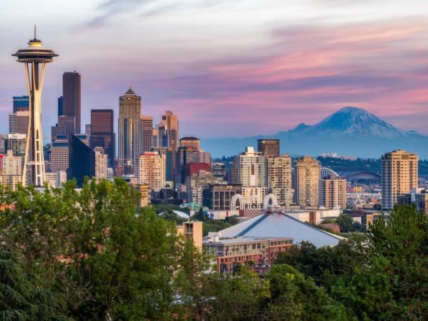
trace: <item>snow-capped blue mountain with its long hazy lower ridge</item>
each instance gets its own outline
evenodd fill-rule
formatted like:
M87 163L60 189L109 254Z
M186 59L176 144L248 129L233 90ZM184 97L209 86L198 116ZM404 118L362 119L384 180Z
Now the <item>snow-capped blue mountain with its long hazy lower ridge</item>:
M397 129L363 108L341 108L317 124L301 123L289 131L246 138L208 138L201 145L214 157L237 155L245 146L257 146L257 138L279 138L281 152L317 156L338 152L356 157L378 158L385 152L404 149L428 159L428 136Z

